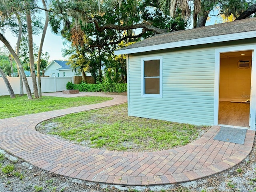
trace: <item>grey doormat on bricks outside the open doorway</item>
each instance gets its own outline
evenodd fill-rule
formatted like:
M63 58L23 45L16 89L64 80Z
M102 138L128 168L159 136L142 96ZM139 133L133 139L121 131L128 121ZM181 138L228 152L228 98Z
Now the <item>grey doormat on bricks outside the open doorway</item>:
M218 132L213 139L230 143L244 144L245 136L246 129L220 127L220 132Z

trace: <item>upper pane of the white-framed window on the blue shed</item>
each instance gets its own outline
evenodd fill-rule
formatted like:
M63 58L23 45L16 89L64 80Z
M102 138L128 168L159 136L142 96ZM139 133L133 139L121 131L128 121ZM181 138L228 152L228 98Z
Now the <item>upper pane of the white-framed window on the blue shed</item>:
M144 61L144 77L159 77L160 60Z

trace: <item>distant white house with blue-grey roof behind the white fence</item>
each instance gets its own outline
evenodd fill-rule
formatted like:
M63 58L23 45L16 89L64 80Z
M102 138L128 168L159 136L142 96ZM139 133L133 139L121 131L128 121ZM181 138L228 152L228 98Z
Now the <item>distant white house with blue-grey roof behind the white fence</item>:
M46 67L44 76L50 77L72 77L76 76L75 70L71 68L70 65L67 65L68 61L59 61L53 60Z

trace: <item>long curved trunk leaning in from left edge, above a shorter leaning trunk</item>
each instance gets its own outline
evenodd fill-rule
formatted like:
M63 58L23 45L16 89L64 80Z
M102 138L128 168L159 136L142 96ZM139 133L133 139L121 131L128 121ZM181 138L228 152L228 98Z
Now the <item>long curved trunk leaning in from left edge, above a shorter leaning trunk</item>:
M24 82L25 88L26 88L26 92L27 92L27 96L28 99L32 99L32 94L31 94L31 90L30 87L28 85L28 80L26 78L24 69L22 67L22 64L20 62L20 58L17 56L17 54L14 52L14 50L12 49L12 46L10 45L10 43L6 40L6 38L3 36L2 33L0 33L0 41L3 42L3 44L8 48L10 54L12 54L14 60L16 61L16 63L18 64L19 70L20 70L20 74L22 76L22 80Z

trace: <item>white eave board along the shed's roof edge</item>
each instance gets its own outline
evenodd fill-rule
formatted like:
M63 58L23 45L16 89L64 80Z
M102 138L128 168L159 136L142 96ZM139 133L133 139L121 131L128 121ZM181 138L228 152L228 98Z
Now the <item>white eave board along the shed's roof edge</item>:
M131 49L125 49L125 50L122 50L122 49L115 50L114 54L115 55L133 54L133 53L163 50L163 49L169 49L169 48L178 48L178 47L185 47L185 46L192 46L192 45L241 40L241 39L248 39L248 38L254 38L254 37L256 37L256 31L248 31L248 32L197 38L197 39L191 39L191 40L185 40L185 41L171 42L166 44L158 44L158 45L152 45L152 46L146 46L146 47L131 48Z

